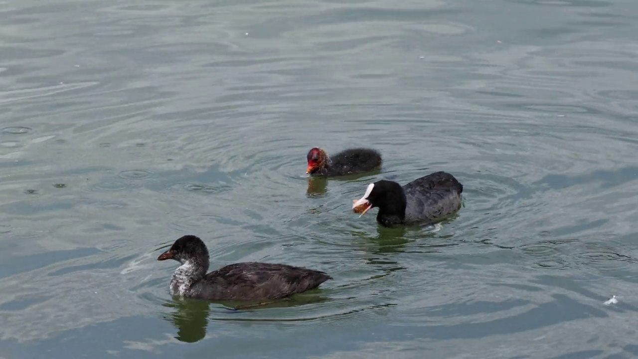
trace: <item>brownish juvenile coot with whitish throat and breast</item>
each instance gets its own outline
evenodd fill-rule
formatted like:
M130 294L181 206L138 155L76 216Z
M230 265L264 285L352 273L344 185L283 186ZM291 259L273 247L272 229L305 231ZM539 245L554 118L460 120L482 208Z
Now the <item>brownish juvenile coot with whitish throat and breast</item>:
M208 249L197 236L182 236L158 261L175 259L182 265L170 279L170 294L209 300L278 299L314 289L332 279L322 271L286 264L235 263L211 273Z

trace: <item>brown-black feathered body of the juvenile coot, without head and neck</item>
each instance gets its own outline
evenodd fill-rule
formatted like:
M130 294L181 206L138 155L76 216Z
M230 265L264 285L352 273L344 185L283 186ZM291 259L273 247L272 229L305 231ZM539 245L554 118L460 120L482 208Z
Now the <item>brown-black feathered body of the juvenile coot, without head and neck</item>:
M322 271L309 270L287 264L236 263L208 273L202 286L215 291L219 300L251 300L256 298L283 298L318 287L332 279Z

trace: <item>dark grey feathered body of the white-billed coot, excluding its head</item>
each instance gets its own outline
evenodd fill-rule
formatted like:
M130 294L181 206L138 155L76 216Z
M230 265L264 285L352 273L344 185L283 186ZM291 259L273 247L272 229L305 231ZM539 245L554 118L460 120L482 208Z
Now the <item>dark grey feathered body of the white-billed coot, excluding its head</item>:
M461 206L463 185L452 174L434 172L403 187L406 222L440 222Z

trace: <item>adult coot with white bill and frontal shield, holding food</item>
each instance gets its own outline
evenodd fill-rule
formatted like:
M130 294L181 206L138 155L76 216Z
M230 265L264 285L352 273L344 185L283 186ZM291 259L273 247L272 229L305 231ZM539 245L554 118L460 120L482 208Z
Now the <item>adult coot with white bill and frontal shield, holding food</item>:
M435 224L461 207L463 185L447 172L434 172L401 187L382 179L368 185L366 193L352 204L364 215L378 207L376 221L386 227L397 224Z

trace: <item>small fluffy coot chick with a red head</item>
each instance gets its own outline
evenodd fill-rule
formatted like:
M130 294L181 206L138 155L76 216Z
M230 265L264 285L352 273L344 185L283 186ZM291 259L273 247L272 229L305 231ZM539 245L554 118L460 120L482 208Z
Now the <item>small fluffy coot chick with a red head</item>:
M369 172L381 166L381 154L369 148L350 148L332 157L321 148L308 151L306 173L315 176L343 176Z

